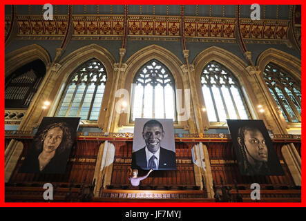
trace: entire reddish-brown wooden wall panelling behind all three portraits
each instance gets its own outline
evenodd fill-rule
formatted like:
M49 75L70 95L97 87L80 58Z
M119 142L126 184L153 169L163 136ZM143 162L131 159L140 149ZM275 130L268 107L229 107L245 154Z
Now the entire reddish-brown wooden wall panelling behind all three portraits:
M23 153L17 163L14 173L10 178L10 183L22 182L59 182L74 184L91 184L95 171L97 153L101 141L77 140L71 151L67 164L66 173L63 175L18 173L24 157L32 142L31 139L21 139L23 142ZM7 143L7 142L6 142ZM115 145L115 159L113 163L113 173L111 185L129 185L128 174L131 168L132 146L131 141L112 142ZM176 149L176 171L153 171L141 185L147 186L195 186L195 175L193 170L193 160L191 148L195 143L175 142ZM211 161L211 172L213 180L217 186L223 182L224 185L232 186L237 181L240 186L249 186L251 183L268 186L294 186L294 182L283 159L281 148L285 143L274 142L274 148L278 154L285 175L282 176L242 176L240 175L236 155L231 142L207 142ZM294 143L300 153L300 143ZM139 175L145 175L147 171L140 171ZM249 187L247 187L249 188Z

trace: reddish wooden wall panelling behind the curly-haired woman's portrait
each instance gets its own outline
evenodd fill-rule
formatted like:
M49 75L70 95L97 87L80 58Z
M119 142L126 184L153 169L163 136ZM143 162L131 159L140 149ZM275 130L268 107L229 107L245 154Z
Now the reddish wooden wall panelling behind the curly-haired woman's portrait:
M70 159L66 166L65 174L35 174L18 173L20 166L30 148L32 140L20 140L23 142L23 153L18 161L10 183L21 182L58 182L74 184L91 184L95 172L97 153L99 151L98 141L77 141L70 153Z

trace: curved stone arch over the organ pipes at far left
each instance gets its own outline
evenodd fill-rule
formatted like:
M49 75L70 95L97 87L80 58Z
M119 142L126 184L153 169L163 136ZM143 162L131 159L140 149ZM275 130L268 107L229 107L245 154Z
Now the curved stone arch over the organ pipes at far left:
M47 71L51 63L50 55L46 49L37 44L25 46L8 53L5 61L5 77L8 77L18 68L21 68L22 66L30 63L31 61L35 61L36 59L40 59L44 62Z

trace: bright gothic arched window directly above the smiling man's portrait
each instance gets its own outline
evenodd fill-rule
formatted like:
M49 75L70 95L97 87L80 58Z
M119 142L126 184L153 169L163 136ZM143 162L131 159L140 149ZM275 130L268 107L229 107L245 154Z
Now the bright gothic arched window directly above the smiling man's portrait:
M167 118L176 121L175 81L170 71L155 59L138 70L133 81L131 120Z

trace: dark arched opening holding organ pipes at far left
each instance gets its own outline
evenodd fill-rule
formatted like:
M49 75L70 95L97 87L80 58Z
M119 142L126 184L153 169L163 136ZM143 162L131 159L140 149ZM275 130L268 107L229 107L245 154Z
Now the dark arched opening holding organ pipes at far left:
M35 60L6 79L6 108L28 108L46 74L43 61Z

